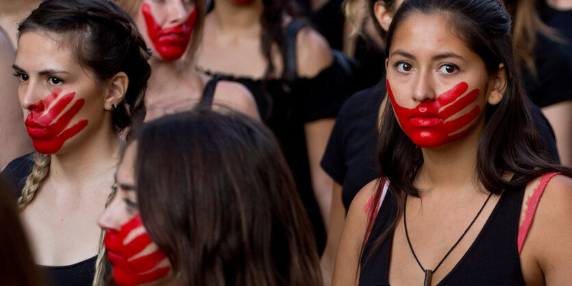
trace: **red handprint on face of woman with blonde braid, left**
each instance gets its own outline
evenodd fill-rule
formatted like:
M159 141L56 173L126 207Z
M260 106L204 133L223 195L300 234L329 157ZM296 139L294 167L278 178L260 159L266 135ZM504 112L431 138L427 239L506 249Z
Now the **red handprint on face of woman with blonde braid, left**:
M32 138L34 148L39 153L53 154L58 152L66 140L82 131L88 125L88 120L81 120L66 129L73 116L79 112L79 109L82 109L85 101L84 99L78 99L62 114L64 109L75 98L75 92L65 94L58 101L55 101L61 92L62 90L60 89L55 90L46 99L28 107L30 113L25 121L26 129L29 137Z

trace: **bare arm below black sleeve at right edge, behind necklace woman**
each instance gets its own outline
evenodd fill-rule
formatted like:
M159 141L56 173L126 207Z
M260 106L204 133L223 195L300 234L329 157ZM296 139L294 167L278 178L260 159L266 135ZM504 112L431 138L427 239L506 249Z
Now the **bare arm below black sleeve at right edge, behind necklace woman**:
M556 148L562 165L572 167L572 100L542 108L556 135Z

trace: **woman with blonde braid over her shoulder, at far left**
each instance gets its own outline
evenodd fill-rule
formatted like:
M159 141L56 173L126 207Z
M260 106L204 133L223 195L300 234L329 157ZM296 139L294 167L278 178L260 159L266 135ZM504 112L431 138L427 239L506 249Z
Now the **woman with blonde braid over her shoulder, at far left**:
M96 284L95 265L99 275L105 262L97 216L110 196L121 132L145 118L150 54L110 1L45 1L18 31L12 68L36 153L3 175L17 187L35 261L51 284Z

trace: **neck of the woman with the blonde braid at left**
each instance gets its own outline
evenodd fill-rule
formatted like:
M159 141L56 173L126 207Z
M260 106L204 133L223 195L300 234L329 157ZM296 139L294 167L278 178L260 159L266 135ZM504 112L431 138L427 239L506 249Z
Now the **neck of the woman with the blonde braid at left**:
M105 176L119 164L122 144L123 140L112 128L105 128L73 151L51 155L49 176L78 189L86 182L107 179Z

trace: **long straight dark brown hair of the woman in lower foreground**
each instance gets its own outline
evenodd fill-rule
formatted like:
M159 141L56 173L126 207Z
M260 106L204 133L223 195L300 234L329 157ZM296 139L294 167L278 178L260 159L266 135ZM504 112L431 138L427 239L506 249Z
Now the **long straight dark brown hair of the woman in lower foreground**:
M174 285L321 285L310 221L261 123L198 107L136 140L140 216Z

